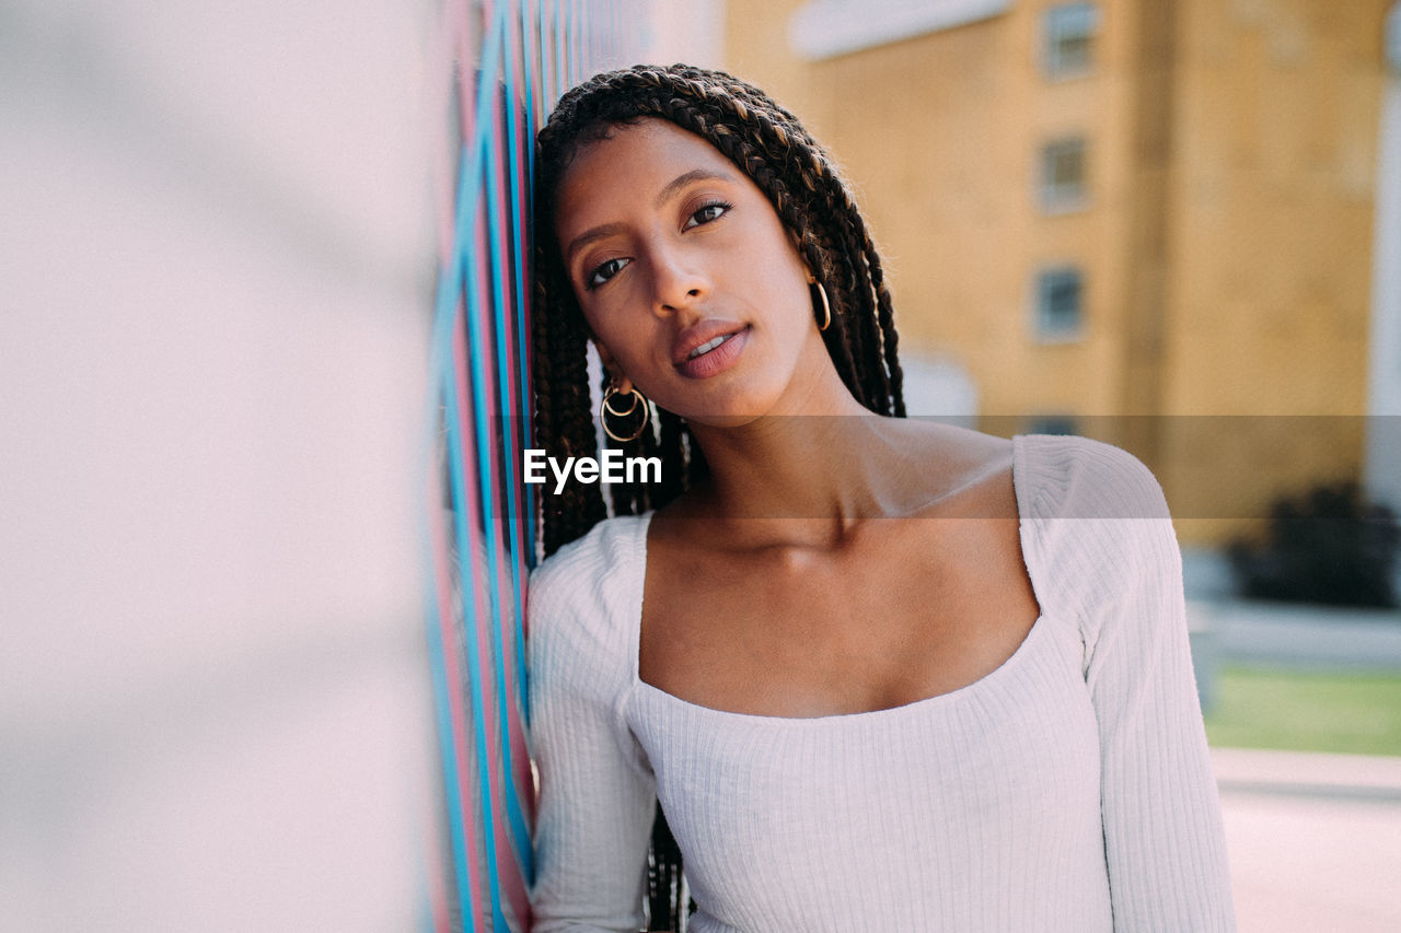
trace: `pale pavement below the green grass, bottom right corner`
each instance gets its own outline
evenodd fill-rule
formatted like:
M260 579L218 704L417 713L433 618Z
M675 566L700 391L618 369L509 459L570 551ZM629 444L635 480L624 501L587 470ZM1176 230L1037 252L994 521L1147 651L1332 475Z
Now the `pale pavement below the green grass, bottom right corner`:
M1401 758L1213 749L1241 933L1401 930Z

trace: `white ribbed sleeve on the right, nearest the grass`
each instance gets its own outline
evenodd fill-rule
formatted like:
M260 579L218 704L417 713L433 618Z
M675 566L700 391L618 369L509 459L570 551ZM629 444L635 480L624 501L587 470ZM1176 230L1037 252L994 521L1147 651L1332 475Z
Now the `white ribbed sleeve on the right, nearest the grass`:
M1181 552L1131 454L1079 440L1056 511L1080 581L1115 930L1234 930L1220 801L1192 674ZM1066 450L1072 450L1068 447Z

